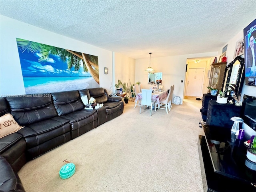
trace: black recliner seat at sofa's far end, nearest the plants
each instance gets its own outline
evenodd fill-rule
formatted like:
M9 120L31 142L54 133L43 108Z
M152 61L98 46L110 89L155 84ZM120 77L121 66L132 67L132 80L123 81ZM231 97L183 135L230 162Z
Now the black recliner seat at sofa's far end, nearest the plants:
M97 103L104 104L103 107L106 109L106 120L104 120L104 113L102 113L99 118L102 122L110 121L124 112L124 103L120 102L122 97L110 97L104 88L90 88L78 91L81 97L87 95L88 100L93 97L96 99Z

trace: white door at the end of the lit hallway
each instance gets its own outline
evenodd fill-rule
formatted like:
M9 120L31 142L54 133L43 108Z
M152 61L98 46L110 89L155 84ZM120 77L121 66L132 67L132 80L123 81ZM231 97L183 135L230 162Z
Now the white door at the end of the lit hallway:
M186 96L201 96L204 82L204 68L189 68Z

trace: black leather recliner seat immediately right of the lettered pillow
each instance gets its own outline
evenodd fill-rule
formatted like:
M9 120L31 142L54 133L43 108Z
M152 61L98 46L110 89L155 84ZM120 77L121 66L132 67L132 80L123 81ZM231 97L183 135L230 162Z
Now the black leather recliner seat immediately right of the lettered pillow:
M24 126L18 133L26 140L27 161L71 139L68 120L58 117L49 93L42 95L6 97L12 116Z

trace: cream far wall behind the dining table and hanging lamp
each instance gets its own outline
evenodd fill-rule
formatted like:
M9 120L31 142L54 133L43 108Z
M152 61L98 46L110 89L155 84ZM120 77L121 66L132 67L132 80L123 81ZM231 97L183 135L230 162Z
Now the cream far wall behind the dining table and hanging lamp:
M179 96L183 102L186 60L187 58L212 57L216 56L217 52L208 52L200 54L188 54L168 57L154 58L154 53L151 55L150 66L155 72L162 72L162 85L164 89L169 89L174 84L173 98ZM150 88L148 82L148 73L145 72L149 67L149 56L146 59L137 59L135 66L135 82L140 81L142 88ZM181 82L183 80L183 82Z

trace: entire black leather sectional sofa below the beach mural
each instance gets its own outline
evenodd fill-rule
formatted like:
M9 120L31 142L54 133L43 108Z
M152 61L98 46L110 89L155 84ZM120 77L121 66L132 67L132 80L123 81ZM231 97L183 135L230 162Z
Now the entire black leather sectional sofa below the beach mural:
M86 109L81 97L104 106ZM116 118L122 97L104 88L1 97L0 115L10 113L24 128L0 139L0 190L24 191L18 171L26 162Z

